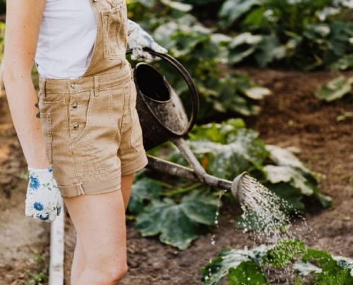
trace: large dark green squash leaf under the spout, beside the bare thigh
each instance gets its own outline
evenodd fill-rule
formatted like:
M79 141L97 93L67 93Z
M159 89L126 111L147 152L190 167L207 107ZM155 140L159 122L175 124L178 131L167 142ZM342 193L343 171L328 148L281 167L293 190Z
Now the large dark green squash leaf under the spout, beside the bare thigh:
M160 235L160 242L187 249L199 234L215 223L218 198L194 191L180 203L172 199L153 200L136 217L136 228L143 237Z

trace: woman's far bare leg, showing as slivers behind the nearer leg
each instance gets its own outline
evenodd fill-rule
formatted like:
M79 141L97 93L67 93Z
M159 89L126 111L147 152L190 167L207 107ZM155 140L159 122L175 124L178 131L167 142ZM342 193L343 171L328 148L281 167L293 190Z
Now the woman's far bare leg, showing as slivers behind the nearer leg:
M124 208L128 207L128 200L131 195L131 185L133 182L133 174L121 177L121 194L123 195ZM73 261L71 265L71 284L76 285L85 267L85 257L80 238L76 238L75 252L73 253Z

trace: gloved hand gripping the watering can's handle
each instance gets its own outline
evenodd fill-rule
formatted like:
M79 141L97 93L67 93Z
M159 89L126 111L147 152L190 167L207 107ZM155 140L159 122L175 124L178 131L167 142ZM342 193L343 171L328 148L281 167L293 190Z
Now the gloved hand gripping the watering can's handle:
M143 51L142 48L150 48L157 53L167 53L168 51L160 46L158 43L153 41L153 38L136 24L134 21L128 19L128 46L133 48L131 59L136 60L137 58L147 58L153 60L155 56L152 56L147 51Z

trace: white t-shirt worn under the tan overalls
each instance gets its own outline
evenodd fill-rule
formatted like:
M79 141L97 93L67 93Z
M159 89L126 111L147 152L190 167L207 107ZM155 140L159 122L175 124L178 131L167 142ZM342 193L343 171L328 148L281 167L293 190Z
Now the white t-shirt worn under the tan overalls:
M96 41L90 0L46 0L36 51L42 78L75 79L85 73Z

